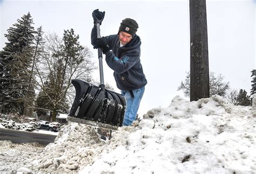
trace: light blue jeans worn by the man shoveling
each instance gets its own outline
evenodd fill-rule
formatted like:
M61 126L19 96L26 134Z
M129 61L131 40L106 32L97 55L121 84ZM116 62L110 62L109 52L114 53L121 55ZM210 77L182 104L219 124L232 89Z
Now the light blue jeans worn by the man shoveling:
M126 100L126 109L124 114L123 126L129 126L136 119L136 115L139 109L140 100L145 91L145 86L137 90L132 90L134 98L131 96L130 91L122 90L121 94L124 95Z

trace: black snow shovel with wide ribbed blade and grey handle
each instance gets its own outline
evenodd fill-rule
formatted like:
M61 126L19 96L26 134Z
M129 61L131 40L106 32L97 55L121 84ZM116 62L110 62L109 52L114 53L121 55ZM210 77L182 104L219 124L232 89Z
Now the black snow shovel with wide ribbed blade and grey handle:
M100 22L97 21L97 38L100 38ZM126 102L123 95L106 90L103 77L102 49L98 48L100 85L95 86L79 79L72 79L76 97L68 115L68 121L117 129L122 126Z

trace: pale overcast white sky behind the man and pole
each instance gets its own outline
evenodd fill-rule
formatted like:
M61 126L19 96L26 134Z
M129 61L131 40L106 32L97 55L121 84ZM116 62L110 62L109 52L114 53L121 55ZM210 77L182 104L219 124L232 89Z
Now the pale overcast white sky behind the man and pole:
M189 0L187 1L5 1L0 0L0 49L6 30L30 12L34 27L63 36L73 28L80 44L93 52L90 44L95 9L105 11L102 36L118 32L124 18L133 18L142 39L141 62L148 84L140 104L143 115L153 107L167 107L176 95L186 71L190 70ZM225 76L232 89L251 90L251 70L256 68L256 1L206 1L210 71ZM104 61L104 80L116 91L113 71ZM99 71L94 73L99 81Z

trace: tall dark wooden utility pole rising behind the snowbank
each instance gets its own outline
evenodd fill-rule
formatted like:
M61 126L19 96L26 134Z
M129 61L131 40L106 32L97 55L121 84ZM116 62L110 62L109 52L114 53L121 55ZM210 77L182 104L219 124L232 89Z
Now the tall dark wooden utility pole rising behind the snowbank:
M206 0L190 0L190 101L210 97Z

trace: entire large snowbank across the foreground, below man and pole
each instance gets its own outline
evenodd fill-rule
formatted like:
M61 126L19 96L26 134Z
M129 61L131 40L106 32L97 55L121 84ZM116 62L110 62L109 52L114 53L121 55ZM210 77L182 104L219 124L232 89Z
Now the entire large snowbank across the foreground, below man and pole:
M225 104L220 96L188 102L177 96L142 121L102 141L95 128L70 124L41 155L32 172L255 173L256 103ZM25 170L24 169L24 170Z

